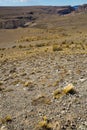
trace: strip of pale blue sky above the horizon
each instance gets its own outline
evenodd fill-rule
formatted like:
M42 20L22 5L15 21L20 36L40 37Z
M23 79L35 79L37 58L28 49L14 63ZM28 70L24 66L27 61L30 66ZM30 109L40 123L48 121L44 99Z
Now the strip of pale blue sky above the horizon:
M0 6L32 6L32 5L81 5L87 0L0 0Z

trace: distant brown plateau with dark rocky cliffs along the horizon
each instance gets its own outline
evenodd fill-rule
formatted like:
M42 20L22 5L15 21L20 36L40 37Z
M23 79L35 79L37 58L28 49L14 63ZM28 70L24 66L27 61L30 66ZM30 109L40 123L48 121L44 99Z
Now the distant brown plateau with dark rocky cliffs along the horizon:
M87 4L78 6L27 6L0 7L0 28L13 29L25 27L28 22L35 22L47 15L68 15L87 12Z

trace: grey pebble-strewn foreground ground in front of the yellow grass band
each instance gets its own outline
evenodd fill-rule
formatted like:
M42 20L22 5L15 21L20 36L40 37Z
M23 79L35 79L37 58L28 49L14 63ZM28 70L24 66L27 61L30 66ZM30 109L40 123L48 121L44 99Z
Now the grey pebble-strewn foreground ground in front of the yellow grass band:
M68 84L75 93L55 99ZM87 130L87 54L1 61L0 130Z

